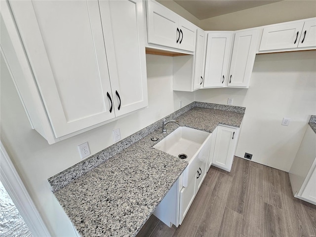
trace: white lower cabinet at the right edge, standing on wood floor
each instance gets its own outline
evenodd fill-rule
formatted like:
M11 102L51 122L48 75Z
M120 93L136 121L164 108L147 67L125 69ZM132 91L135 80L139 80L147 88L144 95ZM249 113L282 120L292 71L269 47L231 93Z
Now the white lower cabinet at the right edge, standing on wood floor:
M316 205L316 133L308 126L289 171L294 197Z

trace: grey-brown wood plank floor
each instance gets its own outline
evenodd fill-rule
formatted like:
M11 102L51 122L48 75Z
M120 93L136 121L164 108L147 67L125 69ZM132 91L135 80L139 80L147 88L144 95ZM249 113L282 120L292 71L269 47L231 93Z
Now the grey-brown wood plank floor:
M230 173L211 166L181 226L152 215L136 237L316 237L316 206L288 173L235 157Z

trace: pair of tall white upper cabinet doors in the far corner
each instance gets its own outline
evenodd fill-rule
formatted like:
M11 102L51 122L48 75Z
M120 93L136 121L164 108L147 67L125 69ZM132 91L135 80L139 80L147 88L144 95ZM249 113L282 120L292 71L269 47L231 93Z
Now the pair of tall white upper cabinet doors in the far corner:
M259 30L209 32L203 88L248 88L257 52ZM231 57L232 56L232 57Z

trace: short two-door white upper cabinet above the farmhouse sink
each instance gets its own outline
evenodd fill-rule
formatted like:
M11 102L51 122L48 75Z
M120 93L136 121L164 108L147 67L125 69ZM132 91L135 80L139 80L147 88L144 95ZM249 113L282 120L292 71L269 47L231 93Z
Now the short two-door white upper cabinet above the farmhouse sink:
M197 27L158 2L146 3L148 43L194 52Z

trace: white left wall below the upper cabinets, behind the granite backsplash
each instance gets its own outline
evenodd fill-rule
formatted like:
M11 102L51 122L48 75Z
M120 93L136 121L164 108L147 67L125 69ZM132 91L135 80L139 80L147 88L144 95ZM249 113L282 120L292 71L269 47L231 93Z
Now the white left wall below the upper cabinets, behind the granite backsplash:
M47 179L81 161L77 146L88 141L91 154L114 143L112 130L125 138L194 101L194 93L172 91L172 58L147 55L149 106L115 122L48 145L31 129L18 94L1 58L0 135L48 230L53 236L74 236L71 223L50 191Z

